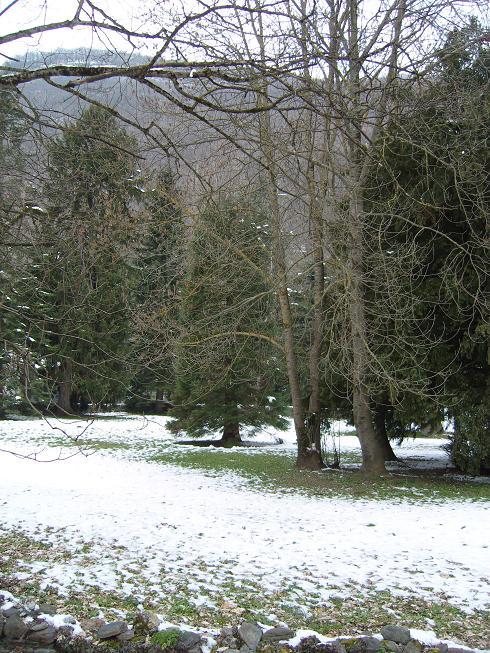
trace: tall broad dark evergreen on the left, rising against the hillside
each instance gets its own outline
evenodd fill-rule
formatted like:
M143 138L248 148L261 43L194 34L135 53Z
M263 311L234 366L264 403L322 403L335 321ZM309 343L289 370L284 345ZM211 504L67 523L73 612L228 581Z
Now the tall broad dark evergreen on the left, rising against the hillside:
M124 395L129 335L126 264L132 232L135 140L90 107L49 146L44 249L33 258L32 323L63 413Z

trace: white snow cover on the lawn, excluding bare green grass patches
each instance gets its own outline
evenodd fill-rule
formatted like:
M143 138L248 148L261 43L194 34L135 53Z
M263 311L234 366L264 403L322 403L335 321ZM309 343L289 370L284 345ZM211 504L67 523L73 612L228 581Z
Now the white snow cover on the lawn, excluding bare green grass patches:
M267 595L289 588L291 604L303 608L383 589L465 611L490 606L490 503L260 491L233 473L138 458L141 447L167 443L171 450L165 423L104 419L85 430L83 422L0 422L0 449L10 452L0 453L0 533L18 529L71 553L49 565L42 554L19 558L19 578L37 577L66 593L90 585L140 600L185 584L195 605L210 607L250 583ZM57 458L54 438L62 431L129 448L45 463L11 453ZM291 455L291 433L283 437L274 453ZM343 451L358 448L353 436L340 442ZM61 458L73 451L62 450ZM422 452L447 464L440 441L401 448L412 459Z

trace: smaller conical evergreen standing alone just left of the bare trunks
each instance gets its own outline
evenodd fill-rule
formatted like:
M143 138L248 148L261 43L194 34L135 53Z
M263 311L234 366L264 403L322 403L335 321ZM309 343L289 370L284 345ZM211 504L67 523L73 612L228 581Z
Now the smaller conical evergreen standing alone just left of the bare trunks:
M285 426L275 342L268 226L256 198L220 198L200 213L181 291L174 431L220 432L224 445Z

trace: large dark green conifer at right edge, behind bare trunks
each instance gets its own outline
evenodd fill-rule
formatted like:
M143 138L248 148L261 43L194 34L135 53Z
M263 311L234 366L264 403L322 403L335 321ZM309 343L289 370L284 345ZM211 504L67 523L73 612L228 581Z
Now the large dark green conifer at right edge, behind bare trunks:
M391 435L452 417L453 460L464 471L487 468L490 448L490 59L482 36L477 23L449 35L433 87L407 97L378 144L368 195L382 254L412 252L398 289L411 307L402 335L417 360L398 361L406 381L389 393ZM383 300L374 285L372 297ZM400 335L393 319L386 327Z

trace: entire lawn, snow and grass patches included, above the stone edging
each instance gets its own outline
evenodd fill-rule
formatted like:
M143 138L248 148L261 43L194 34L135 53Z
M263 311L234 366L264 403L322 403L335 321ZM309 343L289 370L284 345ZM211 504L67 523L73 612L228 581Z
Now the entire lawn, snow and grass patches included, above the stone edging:
M404 443L397 476L372 484L349 469L352 435L347 469L308 473L291 433L216 450L175 445L165 423L1 422L0 586L76 616L144 604L332 635L396 620L490 646L490 485L455 480L444 441Z

